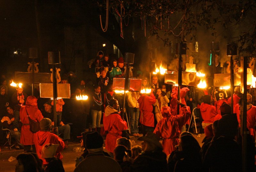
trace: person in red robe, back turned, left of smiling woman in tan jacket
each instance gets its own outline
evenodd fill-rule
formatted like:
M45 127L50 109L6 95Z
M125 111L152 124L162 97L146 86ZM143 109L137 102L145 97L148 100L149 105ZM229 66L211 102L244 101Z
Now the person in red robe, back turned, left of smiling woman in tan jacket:
M153 132L155 127L152 105L156 103L156 97L153 94L153 89L149 96L140 93L138 103L140 104L140 123L143 125L143 136L145 136L147 132Z

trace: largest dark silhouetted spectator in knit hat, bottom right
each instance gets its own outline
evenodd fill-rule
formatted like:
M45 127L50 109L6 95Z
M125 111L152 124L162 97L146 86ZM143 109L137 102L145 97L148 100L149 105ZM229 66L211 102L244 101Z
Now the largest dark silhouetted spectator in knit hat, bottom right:
M238 121L234 114L227 114L218 120L214 139L206 151L203 166L212 172L241 171L242 155L238 143L234 140L237 134Z

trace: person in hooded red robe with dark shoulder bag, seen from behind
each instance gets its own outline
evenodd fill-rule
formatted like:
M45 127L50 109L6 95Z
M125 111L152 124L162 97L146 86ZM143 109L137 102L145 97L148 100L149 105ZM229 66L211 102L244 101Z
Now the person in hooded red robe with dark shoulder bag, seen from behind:
M43 119L41 111L37 108L37 99L35 96L28 96L26 106L20 108L20 121L23 124L21 127L20 143L24 145L24 151L30 151L31 146L33 152L36 152L34 144L34 133L30 131L29 117L35 122L40 122Z

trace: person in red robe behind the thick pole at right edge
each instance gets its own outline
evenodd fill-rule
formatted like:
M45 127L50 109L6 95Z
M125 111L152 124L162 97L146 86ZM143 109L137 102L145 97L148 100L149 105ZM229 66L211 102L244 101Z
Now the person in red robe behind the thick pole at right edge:
M237 120L239 123L241 123L241 118L240 118L240 108L241 106L239 104L236 104L234 107L234 113L236 113ZM252 105L252 95L247 94L247 128L250 132L250 135L253 137L255 140L255 123L256 123L256 106Z

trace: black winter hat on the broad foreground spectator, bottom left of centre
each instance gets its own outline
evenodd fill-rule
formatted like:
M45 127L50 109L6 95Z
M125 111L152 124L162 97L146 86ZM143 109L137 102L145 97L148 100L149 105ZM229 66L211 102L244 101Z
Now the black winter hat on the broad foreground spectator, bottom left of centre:
M103 146L103 138L97 131L86 134L86 138L85 138L86 149L97 149L97 148L101 148L102 146Z

